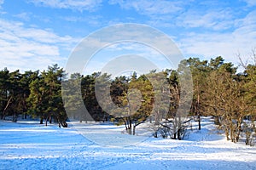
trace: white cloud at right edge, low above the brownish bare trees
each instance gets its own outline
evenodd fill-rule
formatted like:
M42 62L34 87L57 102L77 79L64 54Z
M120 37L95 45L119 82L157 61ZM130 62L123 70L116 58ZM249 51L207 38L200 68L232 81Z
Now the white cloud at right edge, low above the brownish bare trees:
M238 20L237 20L238 21ZM236 54L247 60L252 48L256 47L256 11L239 20L235 31L229 33L189 33L179 44L183 54L201 55L206 59L223 56L229 62L239 63Z

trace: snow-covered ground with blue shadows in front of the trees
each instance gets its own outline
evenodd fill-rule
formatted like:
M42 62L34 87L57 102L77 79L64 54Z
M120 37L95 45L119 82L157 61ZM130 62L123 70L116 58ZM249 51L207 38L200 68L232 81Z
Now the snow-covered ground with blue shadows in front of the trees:
M256 148L226 141L208 117L182 141L123 130L108 122L59 128L1 121L0 169L256 169Z

